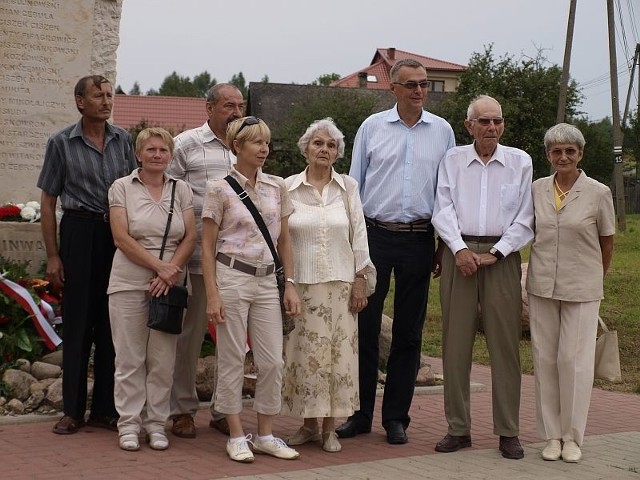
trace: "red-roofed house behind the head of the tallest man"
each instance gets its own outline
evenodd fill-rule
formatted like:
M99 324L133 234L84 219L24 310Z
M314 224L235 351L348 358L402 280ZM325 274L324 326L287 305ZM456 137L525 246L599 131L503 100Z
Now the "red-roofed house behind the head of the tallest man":
M398 60L405 58L412 58L425 66L427 77L431 82L430 91L432 92L454 92L458 87L460 74L467 68L457 63L396 50L395 48L378 48L369 66L336 80L331 83L331 86L388 90L391 83L389 77L391 67Z

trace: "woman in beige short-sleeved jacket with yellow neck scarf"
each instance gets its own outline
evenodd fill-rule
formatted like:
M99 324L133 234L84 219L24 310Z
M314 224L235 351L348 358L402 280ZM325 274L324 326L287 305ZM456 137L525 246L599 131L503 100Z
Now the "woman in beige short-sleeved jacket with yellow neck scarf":
M598 310L611 264L609 187L578 168L584 137L560 123L544 136L555 174L533 182L535 237L527 273L538 434L545 460L582 453L593 386Z

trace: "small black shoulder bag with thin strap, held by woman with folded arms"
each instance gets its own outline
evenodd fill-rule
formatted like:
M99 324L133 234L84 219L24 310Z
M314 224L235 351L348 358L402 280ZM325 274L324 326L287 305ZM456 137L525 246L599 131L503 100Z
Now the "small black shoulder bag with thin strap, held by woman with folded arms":
M171 187L169 218L167 219L167 226L164 230L164 237L162 238L160 260L162 260L162 256L164 255L164 247L167 244L167 236L169 235L171 218L173 217L176 181L172 180L172 182L173 186ZM149 320L147 321L147 327L176 335L182 333L182 319L184 316L184 309L187 308L187 298L189 297L186 285L187 276L185 275L184 285L173 285L169 289L169 293L161 295L160 297L151 297L149 300Z

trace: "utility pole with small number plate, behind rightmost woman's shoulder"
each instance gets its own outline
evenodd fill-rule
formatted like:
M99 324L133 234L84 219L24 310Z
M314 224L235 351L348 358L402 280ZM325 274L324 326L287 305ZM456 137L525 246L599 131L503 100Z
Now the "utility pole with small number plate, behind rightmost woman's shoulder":
M613 178L618 230L627 229L624 211L624 177L622 175L622 129L620 128L620 104L618 101L618 60L616 58L616 32L613 0L607 0L607 23L609 27L609 72L611 75L611 120L613 122Z

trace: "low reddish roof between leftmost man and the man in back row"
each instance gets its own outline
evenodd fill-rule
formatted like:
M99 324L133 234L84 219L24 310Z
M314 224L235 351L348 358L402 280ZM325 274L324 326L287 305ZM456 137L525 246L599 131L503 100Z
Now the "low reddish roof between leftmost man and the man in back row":
M177 135L204 124L205 104L204 98L116 94L113 123L131 129L144 121L148 127L162 127Z

